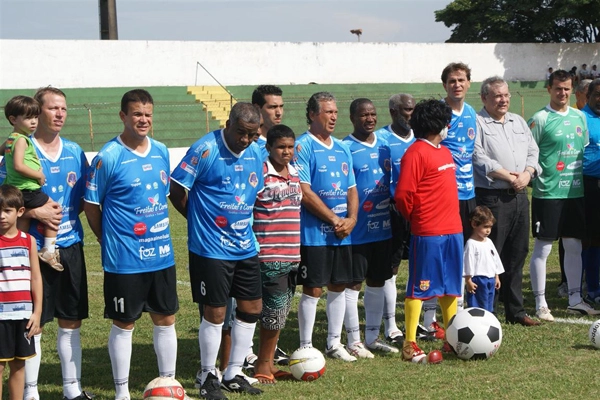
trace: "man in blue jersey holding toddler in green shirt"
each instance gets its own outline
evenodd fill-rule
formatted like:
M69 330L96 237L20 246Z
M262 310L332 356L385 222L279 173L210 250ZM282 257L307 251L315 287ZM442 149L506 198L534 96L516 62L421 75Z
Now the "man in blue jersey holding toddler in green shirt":
M38 248L43 243L44 221L58 228L56 245L65 270L58 272L41 263L44 283L42 325L58 319L57 352L61 362L65 399L90 399L81 389L81 321L88 317L88 288L83 255L83 227L79 220L88 166L79 145L60 137L67 118L65 94L57 88L37 91L41 114L32 142L46 175L42 190L60 205L60 209L43 206L28 210L32 218L29 233ZM25 363L25 399L39 400L37 380L42 349L41 334L35 337L36 356Z

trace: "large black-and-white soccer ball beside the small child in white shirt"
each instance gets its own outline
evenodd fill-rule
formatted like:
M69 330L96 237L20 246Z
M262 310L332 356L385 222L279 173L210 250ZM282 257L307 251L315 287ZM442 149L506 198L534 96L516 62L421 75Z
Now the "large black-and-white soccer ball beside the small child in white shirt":
M485 360L502 344L502 327L489 311L471 307L459 311L448 323L446 340L459 358Z

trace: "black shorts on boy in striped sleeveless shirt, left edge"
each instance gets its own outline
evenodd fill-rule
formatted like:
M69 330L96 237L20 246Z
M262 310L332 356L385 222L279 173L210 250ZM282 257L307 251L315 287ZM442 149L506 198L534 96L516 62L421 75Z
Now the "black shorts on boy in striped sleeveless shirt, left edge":
M35 341L27 339L28 319L0 320L0 362L27 360L35 356Z

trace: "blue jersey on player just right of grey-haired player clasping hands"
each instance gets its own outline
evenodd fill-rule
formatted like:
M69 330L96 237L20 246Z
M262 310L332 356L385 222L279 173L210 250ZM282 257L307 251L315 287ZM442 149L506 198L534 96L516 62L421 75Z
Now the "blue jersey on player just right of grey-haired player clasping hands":
M390 221L390 146L375 136L373 143L350 135L344 144L352 154L358 191L358 216L351 233L352 244L379 242L392 237Z

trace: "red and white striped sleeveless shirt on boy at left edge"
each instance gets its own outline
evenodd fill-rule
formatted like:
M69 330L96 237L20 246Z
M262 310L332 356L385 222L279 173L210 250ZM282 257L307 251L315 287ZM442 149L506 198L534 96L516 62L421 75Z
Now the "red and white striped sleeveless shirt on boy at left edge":
M0 320L31 317L31 238L19 231L14 238L0 236Z

